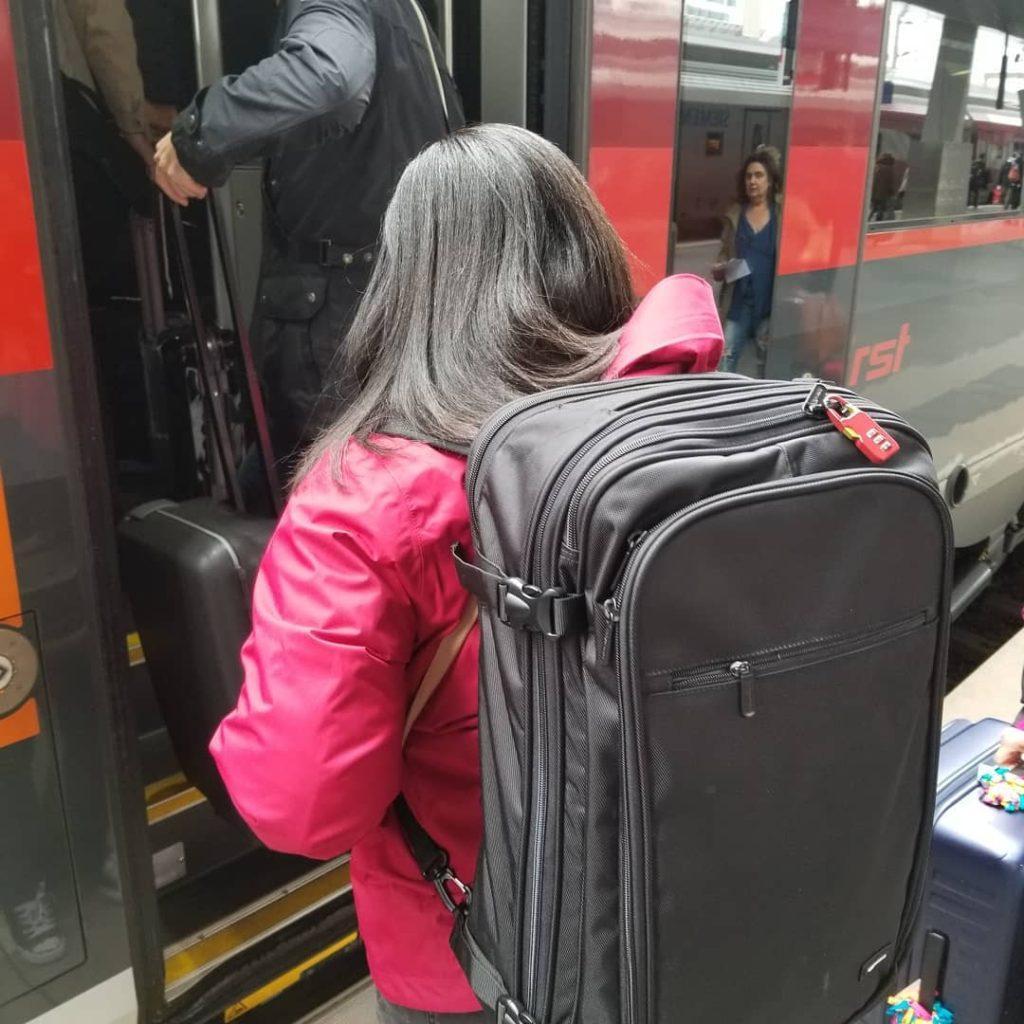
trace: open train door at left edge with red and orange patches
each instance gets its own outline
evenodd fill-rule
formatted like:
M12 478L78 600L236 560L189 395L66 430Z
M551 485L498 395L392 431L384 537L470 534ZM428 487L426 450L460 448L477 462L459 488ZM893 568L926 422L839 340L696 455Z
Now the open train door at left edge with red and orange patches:
M42 42L26 45L20 13L0 2L0 1021L92 991L92 1009L127 1022L129 943L112 892L122 807L108 785L117 766L99 611L110 549L89 544L99 496L67 415L91 398L72 393L83 353L56 342L81 337L82 308L54 310L44 291L44 275L74 273L69 196L34 210L29 153L45 166L59 136L40 132L36 97L19 96L27 51ZM88 1019L78 1009L63 1019Z

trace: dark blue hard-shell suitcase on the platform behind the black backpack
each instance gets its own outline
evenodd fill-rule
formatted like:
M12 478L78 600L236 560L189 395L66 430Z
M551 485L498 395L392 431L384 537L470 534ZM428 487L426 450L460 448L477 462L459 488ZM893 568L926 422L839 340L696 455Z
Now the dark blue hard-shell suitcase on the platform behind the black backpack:
M928 891L903 980L928 971L926 936L946 936L941 998L956 1024L1024 1022L1024 814L983 804L978 785L1009 727L957 721L942 732ZM858 1024L885 1020L880 1009Z

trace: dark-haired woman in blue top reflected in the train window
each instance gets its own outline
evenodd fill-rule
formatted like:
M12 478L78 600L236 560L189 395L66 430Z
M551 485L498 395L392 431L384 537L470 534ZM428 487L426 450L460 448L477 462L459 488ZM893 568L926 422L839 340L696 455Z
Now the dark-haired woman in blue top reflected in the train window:
M736 177L736 202L722 217L722 247L712 276L722 282L719 312L725 325L722 370L735 373L750 342L758 356L758 376L768 359L768 331L781 220L778 152L762 145L749 156Z

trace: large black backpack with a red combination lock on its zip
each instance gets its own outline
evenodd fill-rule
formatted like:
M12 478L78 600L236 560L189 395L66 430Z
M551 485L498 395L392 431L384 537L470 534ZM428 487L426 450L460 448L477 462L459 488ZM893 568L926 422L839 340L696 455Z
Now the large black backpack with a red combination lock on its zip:
M813 381L626 380L501 412L467 489L471 894L398 816L484 1007L842 1024L884 996L922 901L949 628L925 439Z

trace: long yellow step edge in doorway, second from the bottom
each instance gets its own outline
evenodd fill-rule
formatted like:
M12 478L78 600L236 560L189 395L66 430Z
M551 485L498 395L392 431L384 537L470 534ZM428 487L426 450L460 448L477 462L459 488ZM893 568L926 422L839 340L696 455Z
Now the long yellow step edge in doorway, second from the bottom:
M231 925L209 935L200 936L187 948L165 958L165 984L170 987L214 962L225 958L241 946L299 916L309 907L323 902L335 893L347 889L349 883L348 864L339 864L338 867L310 879L280 898L261 904L252 913Z

